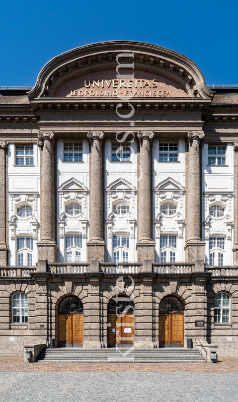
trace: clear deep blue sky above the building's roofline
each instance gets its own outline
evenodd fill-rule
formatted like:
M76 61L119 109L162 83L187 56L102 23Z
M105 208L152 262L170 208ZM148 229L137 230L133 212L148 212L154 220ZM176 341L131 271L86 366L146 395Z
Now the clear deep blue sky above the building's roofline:
M118 39L184 54L207 84L238 84L235 0L1 0L0 15L0 85L34 85L60 53Z

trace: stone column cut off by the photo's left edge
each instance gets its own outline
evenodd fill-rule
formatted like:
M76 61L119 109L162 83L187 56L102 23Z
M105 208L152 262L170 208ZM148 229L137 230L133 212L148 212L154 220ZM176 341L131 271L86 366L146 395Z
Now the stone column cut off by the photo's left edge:
M0 143L0 266L7 265L7 170L6 170L6 141Z

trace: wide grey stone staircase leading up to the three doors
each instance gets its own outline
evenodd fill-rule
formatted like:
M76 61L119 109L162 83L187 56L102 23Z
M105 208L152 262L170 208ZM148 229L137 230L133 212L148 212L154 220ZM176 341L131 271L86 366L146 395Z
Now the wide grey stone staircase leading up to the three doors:
M120 348L121 353L116 352L116 348L108 349L85 349L79 347L58 348L42 350L38 356L38 362L72 362L72 363L196 363L205 362L199 349L187 348L159 348L159 349L134 349L129 350L125 347Z

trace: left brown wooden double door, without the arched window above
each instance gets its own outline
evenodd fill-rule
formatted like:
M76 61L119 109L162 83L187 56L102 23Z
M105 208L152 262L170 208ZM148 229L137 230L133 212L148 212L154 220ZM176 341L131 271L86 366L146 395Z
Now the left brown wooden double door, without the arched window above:
M83 343L83 315L58 315L58 343L65 346L77 346Z

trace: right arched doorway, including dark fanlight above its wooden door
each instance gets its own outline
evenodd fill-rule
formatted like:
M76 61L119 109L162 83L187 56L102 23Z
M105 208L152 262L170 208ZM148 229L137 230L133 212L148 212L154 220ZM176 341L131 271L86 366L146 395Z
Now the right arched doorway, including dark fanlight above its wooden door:
M175 296L159 303L159 347L183 347L183 304Z

